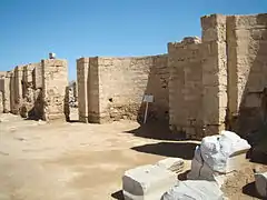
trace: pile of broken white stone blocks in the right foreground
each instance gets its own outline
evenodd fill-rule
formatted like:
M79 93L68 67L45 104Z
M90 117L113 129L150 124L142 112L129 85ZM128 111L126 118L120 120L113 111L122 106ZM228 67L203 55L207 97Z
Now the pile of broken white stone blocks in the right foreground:
M220 190L233 171L240 170L250 144L235 132L206 137L195 150L188 180L179 181L184 160L168 158L156 164L142 166L125 172L126 200L225 200ZM266 196L267 174L255 174L259 193ZM257 184L257 183L256 183Z

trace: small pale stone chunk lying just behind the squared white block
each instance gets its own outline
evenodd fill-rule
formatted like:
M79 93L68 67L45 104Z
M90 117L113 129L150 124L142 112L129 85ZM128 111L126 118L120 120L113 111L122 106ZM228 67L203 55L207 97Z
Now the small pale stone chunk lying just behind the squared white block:
M180 158L167 158L158 161L156 166L178 173L184 170L185 162Z

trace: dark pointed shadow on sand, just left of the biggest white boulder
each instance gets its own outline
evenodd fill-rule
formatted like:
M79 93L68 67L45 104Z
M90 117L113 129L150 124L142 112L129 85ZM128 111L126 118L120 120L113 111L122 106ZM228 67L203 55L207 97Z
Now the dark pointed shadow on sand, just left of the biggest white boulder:
M194 158L196 147L197 143L192 142L159 142L138 146L131 149L145 153L191 160Z

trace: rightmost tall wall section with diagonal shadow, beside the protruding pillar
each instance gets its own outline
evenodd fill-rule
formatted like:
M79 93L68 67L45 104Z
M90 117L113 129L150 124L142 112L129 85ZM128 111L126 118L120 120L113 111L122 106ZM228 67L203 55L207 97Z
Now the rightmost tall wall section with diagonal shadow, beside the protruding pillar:
M256 131L267 117L267 14L227 18L229 128Z

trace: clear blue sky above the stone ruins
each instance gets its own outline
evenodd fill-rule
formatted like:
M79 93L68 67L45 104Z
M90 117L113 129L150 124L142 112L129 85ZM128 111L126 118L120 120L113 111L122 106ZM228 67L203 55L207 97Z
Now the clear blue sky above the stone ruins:
M200 36L200 17L267 12L267 0L0 0L0 71L56 52L93 56L167 52L167 42Z

